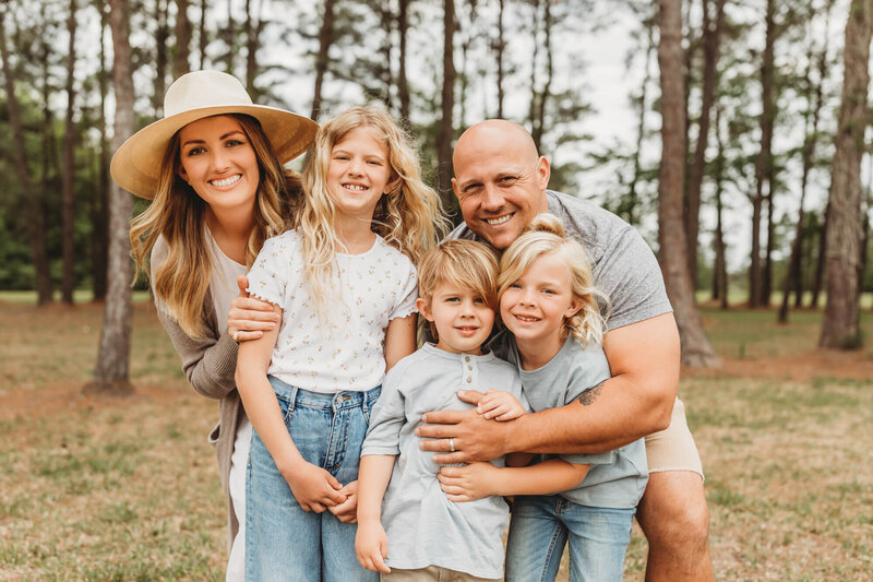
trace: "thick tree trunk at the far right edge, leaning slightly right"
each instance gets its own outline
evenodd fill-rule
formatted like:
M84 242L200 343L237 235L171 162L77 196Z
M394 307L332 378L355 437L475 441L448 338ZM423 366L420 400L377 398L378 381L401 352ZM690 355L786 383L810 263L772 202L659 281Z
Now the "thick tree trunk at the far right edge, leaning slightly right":
M830 180L827 230L827 304L822 347L862 344L859 271L861 269L861 155L868 124L870 39L873 0L852 0L842 52L844 79Z

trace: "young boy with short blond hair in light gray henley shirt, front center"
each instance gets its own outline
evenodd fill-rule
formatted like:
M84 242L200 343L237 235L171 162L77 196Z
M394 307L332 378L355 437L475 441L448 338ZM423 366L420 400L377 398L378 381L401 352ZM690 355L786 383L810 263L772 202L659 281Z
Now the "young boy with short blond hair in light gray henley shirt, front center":
M458 390L500 388L521 399L515 367L481 349L494 323L497 274L493 251L469 240L446 241L419 265L416 307L438 343L388 371L361 449L355 545L361 566L383 579L436 580L441 570L466 574L458 580L503 575L506 502L498 496L450 501L440 489L440 465L419 450L414 432L428 411L469 406ZM514 402L504 413L510 419L524 409Z

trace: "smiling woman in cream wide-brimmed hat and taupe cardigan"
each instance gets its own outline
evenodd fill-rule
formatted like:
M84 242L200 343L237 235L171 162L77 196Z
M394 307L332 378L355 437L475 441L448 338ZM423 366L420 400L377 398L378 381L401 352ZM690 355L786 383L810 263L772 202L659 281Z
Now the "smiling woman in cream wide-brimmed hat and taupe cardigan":
M242 580L251 424L234 381L237 343L227 312L237 277L264 240L285 229L301 194L297 176L282 165L309 147L318 126L253 105L237 79L217 71L180 76L164 111L118 150L111 174L152 200L131 223L137 269L150 274L158 317L188 380L220 401L210 441L228 496L227 580Z

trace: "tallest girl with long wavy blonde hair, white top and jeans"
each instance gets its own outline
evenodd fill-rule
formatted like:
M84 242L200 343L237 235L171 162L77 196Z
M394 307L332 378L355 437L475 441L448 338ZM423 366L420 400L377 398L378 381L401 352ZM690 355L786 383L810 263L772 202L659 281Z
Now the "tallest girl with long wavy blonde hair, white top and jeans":
M409 140L356 107L319 131L294 228L268 239L248 292L280 323L240 345L254 425L250 580L372 580L357 563L360 447L386 368L415 351L415 263L445 223ZM328 510L330 511L326 511Z

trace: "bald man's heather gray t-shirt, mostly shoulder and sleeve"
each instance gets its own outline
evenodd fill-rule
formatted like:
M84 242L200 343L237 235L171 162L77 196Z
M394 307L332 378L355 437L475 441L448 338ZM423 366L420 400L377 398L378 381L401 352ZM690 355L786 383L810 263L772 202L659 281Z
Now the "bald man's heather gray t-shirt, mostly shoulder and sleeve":
M633 226L578 198L551 190L546 198L549 212L561 219L566 236L588 251L594 285L611 304L607 330L672 311L658 261ZM466 224L447 238L481 240Z

